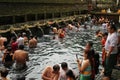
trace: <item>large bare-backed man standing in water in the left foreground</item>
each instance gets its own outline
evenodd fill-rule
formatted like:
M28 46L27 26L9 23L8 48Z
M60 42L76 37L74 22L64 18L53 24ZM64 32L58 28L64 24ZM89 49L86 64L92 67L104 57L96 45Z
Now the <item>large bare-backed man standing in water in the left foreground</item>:
M13 55L13 60L15 60L14 67L17 70L24 69L26 67L26 61L29 60L28 52L23 49L24 45L20 45L19 50L16 50Z

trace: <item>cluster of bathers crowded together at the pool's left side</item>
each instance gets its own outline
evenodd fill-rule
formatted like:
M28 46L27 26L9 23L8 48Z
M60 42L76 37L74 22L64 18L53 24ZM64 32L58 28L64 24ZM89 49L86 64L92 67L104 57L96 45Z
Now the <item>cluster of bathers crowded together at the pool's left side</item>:
M11 37L11 40L8 41L7 37L0 36L0 67L18 71L27 68L26 62L29 61L29 56L24 47L36 48L36 37L30 35L29 39L26 33L23 32L18 33L17 37ZM3 71L5 71L3 75L7 76L6 70Z

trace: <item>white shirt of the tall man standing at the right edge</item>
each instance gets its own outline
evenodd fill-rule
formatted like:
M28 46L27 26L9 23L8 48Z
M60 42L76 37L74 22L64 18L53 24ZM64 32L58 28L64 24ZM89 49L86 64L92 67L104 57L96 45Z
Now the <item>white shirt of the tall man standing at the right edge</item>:
M108 34L106 43L105 43L105 50L109 51L110 47L114 47L113 51L111 54L116 54L117 53L117 43L118 43L118 36L117 33L114 32L112 34Z

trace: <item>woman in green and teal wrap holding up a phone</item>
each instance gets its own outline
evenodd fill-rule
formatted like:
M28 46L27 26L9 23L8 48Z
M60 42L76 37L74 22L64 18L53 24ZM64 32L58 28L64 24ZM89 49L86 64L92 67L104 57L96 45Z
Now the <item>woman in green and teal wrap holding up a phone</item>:
M80 74L80 80L92 80L92 71L94 69L93 63L92 63L92 57L91 54L89 53L89 50L84 50L83 54L83 60L80 61L77 59L77 64L78 64L78 69Z

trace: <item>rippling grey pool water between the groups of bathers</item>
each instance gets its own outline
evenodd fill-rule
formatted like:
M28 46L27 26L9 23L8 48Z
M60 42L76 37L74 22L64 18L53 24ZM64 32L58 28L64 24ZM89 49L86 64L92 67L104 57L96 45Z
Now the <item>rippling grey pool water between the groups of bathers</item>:
M44 35L39 39L37 48L29 49L30 61L27 62L28 69L20 72L10 70L9 77L14 78L25 75L26 80L42 80L41 74L46 66L61 64L62 62L67 62L78 74L76 54L78 54L79 58L82 58L87 41L93 41L95 50L101 54L100 40L95 37L96 30L98 30L97 26L88 30L81 29L79 32L69 31L63 42L53 40L51 34Z

